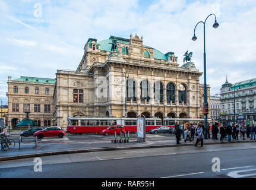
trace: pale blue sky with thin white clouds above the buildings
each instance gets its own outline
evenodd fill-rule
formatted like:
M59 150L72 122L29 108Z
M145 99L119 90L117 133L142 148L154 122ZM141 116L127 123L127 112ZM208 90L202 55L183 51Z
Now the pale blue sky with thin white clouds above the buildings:
M256 1L188 0L0 0L0 99L7 105L7 81L20 76L55 78L57 69L77 69L87 40L135 33L162 53L184 53L204 71L203 23L206 21L206 76L210 95L230 83L255 77ZM203 75L200 83L204 83Z

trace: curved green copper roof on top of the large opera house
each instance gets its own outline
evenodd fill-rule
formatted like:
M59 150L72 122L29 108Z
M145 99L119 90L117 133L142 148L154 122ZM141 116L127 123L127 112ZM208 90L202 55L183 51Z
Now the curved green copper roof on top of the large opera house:
M118 42L121 42L121 43L129 43L129 39L125 39L125 38L122 38L122 37L115 37L115 36L110 36L109 39L106 39L106 40L102 40L100 42L98 42L97 44L100 44L100 50L105 50L105 51L111 51L111 42L112 40L111 39L116 39ZM149 46L145 46L145 47L149 47ZM150 47L152 48L152 47ZM154 49L154 48L153 48ZM168 60L168 57L163 54L162 52L160 52L159 50L157 49L154 49L154 58L155 59L164 59L164 60Z

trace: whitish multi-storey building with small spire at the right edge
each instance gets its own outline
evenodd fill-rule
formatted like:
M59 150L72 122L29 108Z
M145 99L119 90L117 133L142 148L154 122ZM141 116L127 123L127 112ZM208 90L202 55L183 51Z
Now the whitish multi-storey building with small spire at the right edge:
M235 94L234 94L235 89ZM220 88L220 108L225 115L223 121L233 122L234 118L234 95L236 120L242 113L245 120L256 120L256 78L241 81L235 84L228 83Z

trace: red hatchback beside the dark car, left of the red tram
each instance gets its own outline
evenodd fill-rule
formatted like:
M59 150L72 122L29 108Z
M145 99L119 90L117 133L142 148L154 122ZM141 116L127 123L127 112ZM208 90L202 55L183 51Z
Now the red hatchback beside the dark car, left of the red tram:
M43 129L42 131L37 131L34 133L34 137L43 138L43 137L59 137L63 138L65 131L59 126L49 126L48 128Z

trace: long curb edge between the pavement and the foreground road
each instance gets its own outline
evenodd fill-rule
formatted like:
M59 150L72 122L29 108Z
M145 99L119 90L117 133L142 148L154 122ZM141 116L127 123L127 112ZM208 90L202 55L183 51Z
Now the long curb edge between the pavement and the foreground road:
M231 143L256 143L256 140L245 140L245 141L230 141L230 142L213 142L213 143L204 143L204 145L211 145L211 144L231 144ZM0 157L1 161L7 160L17 160L17 159L27 159L31 157L40 157L40 156L53 156L58 154L74 154L74 153L89 153L89 152L96 152L96 151L110 151L110 150L133 150L133 149L142 149L142 148L165 148L165 147L185 147L191 146L191 144L163 144L163 145L145 145L145 146L138 146L138 147L102 147L102 148L86 148L86 149L76 149L76 150L63 150L63 151L52 151L52 152L45 152L45 153L34 153L34 154L20 154L17 156L5 156Z

